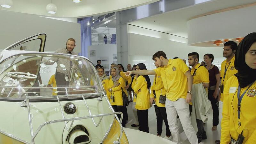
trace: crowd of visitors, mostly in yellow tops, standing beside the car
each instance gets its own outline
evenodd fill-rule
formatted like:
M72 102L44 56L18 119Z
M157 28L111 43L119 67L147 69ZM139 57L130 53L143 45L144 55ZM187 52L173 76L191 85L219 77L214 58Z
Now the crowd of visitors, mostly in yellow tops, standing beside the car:
M166 139L180 144L177 118L191 144L207 139L204 123L212 106L212 131L221 121L221 138L216 143L256 143L256 33L247 35L237 46L236 42L224 44L219 70L213 65L214 56L204 55L199 63L199 54L192 52L186 60L176 57L167 59L163 51L153 55L156 69L147 70L145 64L112 64L110 77L103 77L104 68L97 67L102 84L113 109L124 113L123 127L128 120L122 92L133 101L136 122L132 127L149 133L148 109L154 105L157 135L162 134L163 120ZM99 61L99 60L98 60ZM185 62L185 63L184 63ZM155 75L153 84L148 75ZM104 80L105 78L105 80ZM127 92L128 91L128 92ZM132 100L133 92L133 100ZM150 93L151 92L151 93Z

